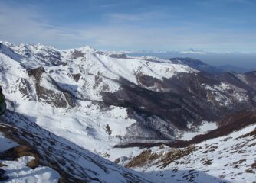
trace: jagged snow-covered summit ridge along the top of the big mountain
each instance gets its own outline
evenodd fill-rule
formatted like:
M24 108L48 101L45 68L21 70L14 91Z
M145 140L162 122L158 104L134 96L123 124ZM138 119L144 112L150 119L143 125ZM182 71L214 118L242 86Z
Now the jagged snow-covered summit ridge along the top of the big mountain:
M69 50L57 50L54 47L31 43L21 43L20 45L8 43L5 46L10 47L15 53L24 56L21 64L25 64L28 67L36 66L35 62L38 65L52 66L58 63L68 63L71 59L76 59L77 61L87 59L94 66L87 69L97 69L98 71L107 69L107 72L112 72L112 74L116 75L115 79L121 76L130 82L136 82L134 74L138 72L159 79L162 79L162 77L170 78L174 75L174 72L197 72L195 69L182 65L172 65L168 63L168 60L156 57L113 58L108 56L108 53L97 51L89 46ZM159 63L153 63L156 61Z

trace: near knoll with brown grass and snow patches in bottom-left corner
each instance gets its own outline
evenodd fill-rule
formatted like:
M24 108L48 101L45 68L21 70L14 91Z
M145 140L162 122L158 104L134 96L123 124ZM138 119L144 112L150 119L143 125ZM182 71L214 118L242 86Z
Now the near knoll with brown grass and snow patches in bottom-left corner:
M0 131L2 131L0 124ZM28 146L21 146L0 132L0 181L57 183L58 172L40 165L39 157Z

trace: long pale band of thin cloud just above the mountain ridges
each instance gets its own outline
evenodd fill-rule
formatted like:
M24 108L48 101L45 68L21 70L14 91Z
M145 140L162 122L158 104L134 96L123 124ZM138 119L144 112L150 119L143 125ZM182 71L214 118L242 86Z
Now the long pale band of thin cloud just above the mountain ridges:
M77 27L55 26L35 7L9 7L0 2L0 37L14 43L44 43L60 48L89 44L106 50L199 50L252 51L256 33L235 30L194 30L195 25L143 27L139 24L112 24L111 21L148 21L159 12L109 14L108 24ZM161 14L160 14L161 15ZM162 18L165 18L162 14ZM251 50L250 50L251 49ZM242 50L241 50L242 51Z

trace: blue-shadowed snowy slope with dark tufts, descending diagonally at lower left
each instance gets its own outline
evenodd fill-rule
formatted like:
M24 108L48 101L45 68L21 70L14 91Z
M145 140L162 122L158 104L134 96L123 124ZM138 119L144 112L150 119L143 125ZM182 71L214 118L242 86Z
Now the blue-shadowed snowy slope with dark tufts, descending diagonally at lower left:
M143 178L143 174L139 172L125 169L54 135L48 130L44 130L34 123L33 117L25 117L7 111L5 117L2 118L0 127L6 135L36 149L41 158L41 163L54 167L61 174L64 182L151 182L147 178ZM41 182L39 178L49 178L49 182L51 180L54 182L56 173L53 175L44 174L47 170L34 169L34 172L31 172L31 170L24 168L22 172L8 172L11 169L21 169L28 161L31 161L31 157L18 159L16 162L3 161L2 163L8 165L5 169L10 178L15 179L15 177L21 176L22 173L26 177L27 171L30 171L31 181L29 182L34 182L33 180ZM38 171L42 175L36 175ZM37 178L38 181L36 181ZM24 180L21 178L22 181Z

